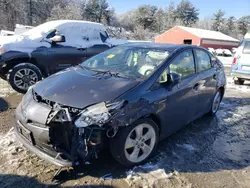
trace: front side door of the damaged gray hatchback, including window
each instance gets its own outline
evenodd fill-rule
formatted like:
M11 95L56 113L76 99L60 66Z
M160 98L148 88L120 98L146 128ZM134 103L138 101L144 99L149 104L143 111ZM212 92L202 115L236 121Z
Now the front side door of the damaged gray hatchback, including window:
M169 79L166 75L169 73L181 75L181 81L173 88L166 84L168 83L166 79ZM193 121L196 114L199 76L195 71L192 50L186 50L179 54L163 71L160 80L163 80L164 83L160 84L159 89L164 90L166 95L161 95L164 98L159 99L165 105L157 115L162 120L163 135L167 136Z

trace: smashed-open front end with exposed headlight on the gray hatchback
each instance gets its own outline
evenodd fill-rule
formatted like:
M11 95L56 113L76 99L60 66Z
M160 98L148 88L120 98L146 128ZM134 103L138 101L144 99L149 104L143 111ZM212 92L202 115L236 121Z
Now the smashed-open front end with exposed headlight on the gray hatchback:
M107 146L108 138L114 137L118 131L118 126L109 122L123 108L124 101L101 102L77 109L43 99L34 91L32 93L37 104L50 108L46 123L42 125L48 128L47 143L42 143L39 149L49 153L50 147L57 153L53 155L56 160L70 161L72 166L84 164L92 157L97 157L98 152ZM28 117L28 121L36 122L34 116L32 120ZM35 132L33 136L36 146Z

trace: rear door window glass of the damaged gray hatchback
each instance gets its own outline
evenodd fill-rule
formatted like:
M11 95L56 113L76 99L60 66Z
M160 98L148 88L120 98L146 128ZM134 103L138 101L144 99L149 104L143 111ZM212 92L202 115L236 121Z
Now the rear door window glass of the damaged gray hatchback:
M208 70L212 67L211 59L207 52L204 50L195 49L196 57L197 57L197 70L198 72L202 72Z

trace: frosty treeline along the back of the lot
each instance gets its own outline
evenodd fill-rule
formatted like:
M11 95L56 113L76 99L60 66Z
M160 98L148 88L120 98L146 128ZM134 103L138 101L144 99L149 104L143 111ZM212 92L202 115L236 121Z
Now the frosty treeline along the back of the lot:
M49 20L77 19L103 23L119 38L150 40L175 25L221 31L242 39L250 26L250 15L226 18L218 10L211 18L199 20L199 9L190 1L166 4L165 8L141 5L116 14L107 0L0 0L0 29L13 30L15 24L36 26Z

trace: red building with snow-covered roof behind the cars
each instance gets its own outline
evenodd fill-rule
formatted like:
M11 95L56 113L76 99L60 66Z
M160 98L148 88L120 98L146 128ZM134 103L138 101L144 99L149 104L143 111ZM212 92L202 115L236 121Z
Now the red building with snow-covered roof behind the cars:
M240 41L218 31L175 26L155 38L158 43L192 44L204 48L232 49Z

